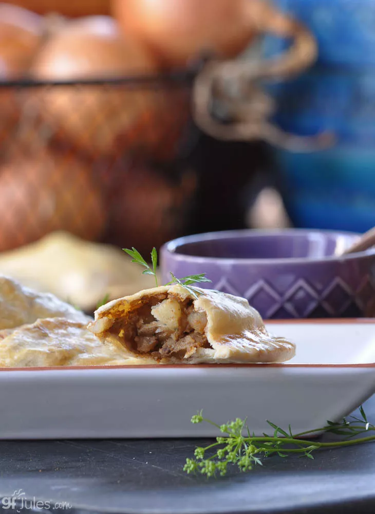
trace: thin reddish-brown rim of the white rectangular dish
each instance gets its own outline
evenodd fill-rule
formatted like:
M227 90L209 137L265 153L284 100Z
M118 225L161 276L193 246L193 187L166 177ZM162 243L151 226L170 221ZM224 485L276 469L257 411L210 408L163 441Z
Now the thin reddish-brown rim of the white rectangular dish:
M267 325L277 325L277 324L330 324L330 325L343 325L343 324L352 324L352 325L375 325L375 318L298 318L298 319L271 319L264 320ZM0 368L0 373L2 372L30 372L30 371L59 371L59 372L67 372L72 370L127 370L127 369L222 369L222 368L284 368L284 369L296 369L296 368L334 368L334 369L345 369L345 368L354 368L354 369L372 369L375 368L375 362L367 362L361 364L287 364L287 363L228 363L228 364L121 364L121 365L98 365L98 366L34 366L30 368Z

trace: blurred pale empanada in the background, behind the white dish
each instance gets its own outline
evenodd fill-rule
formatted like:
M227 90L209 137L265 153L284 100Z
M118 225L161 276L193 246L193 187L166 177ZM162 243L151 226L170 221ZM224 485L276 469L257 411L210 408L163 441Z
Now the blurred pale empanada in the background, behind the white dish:
M106 295L129 295L147 286L115 246L52 232L29 245L0 253L0 273L40 292L50 292L92 312Z

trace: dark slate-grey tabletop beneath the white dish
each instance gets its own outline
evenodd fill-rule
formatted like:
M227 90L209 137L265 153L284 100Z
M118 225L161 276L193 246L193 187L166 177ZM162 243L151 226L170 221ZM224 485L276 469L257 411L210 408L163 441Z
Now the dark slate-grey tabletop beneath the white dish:
M375 397L365 407L374 420ZM0 497L22 489L26 498L50 501L56 514L375 512L375 444L321 451L314 461L272 457L250 473L234 471L217 480L182 471L198 444L204 442L3 441ZM70 513L53 509L59 501L71 504ZM11 509L4 512L12 514Z

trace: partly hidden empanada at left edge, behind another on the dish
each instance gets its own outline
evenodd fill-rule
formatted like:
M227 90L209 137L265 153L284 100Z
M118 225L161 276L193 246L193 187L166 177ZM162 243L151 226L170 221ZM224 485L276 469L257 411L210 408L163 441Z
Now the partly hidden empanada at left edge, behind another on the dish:
M80 323L90 320L80 310L49 293L32 291L15 280L0 276L0 331L52 317Z

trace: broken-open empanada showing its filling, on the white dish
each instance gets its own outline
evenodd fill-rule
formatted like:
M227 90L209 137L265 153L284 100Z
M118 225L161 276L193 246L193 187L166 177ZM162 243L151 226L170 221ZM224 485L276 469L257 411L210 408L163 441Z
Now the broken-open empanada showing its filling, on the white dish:
M139 291L100 307L88 328L129 355L168 363L284 362L293 343L270 335L244 298L180 285Z

